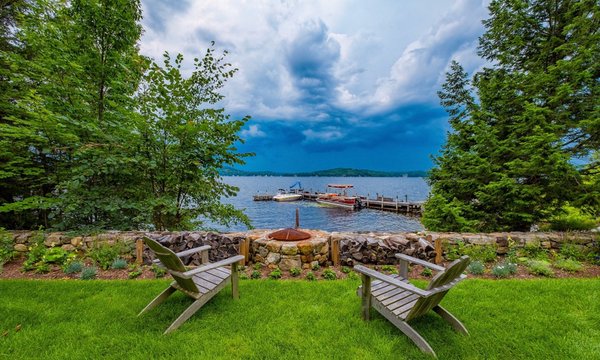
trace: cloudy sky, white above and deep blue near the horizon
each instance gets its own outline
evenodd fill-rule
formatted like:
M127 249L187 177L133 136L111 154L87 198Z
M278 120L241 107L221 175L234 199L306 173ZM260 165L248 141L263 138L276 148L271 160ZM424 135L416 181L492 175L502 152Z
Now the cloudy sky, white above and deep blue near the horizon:
M447 117L436 91L451 60L483 65L487 0L142 0L141 52L211 41L239 68L222 105L252 116L246 170L426 170Z

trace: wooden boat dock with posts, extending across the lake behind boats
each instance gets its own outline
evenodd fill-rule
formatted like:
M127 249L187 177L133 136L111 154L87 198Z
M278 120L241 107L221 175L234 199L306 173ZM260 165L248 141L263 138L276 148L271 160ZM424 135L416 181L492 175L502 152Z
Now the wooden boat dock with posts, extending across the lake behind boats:
M317 197L322 193L304 191L302 194L302 200L316 201ZM391 211L406 215L417 215L420 216L423 212L423 201L401 201L398 198L389 198L383 195L377 194L375 199L370 199L370 195L361 196L355 195L360 198L361 208L374 209L382 211ZM270 201L273 200L273 195L270 194L257 194L253 196L254 201Z

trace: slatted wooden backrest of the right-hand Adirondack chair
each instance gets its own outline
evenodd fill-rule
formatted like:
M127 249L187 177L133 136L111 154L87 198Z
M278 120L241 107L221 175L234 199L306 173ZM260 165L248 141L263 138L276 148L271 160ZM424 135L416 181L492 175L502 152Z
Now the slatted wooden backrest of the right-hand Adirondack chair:
M427 290L434 290L452 283L467 269L469 262L471 262L471 259L468 256L462 256L460 259L455 260L448 266L446 270L439 272L431 280L427 286ZM446 296L447 292L448 290L441 291L431 296L419 298L415 306L411 309L410 313L408 313L406 316L405 321L409 321L410 319L417 318L429 312L429 310L439 305L444 296Z

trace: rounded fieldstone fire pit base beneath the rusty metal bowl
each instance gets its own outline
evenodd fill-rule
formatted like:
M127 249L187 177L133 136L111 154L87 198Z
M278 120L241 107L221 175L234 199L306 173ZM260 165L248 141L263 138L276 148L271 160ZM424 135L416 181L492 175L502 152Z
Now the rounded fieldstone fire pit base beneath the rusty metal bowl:
M310 238L298 241L274 240L272 231L253 231L250 258L255 263L270 267L279 266L283 271L291 268L310 268L314 264L325 265L329 260L329 234L318 230L305 230Z

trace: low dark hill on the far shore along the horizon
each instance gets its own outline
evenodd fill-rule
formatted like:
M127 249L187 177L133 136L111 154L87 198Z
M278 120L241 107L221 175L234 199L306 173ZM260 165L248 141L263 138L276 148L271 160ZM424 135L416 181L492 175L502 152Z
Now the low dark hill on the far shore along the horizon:
M332 176L332 177L426 177L426 171L377 171L352 168L335 168L309 172L275 172L275 171L245 171L224 167L219 172L222 176Z

